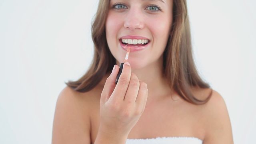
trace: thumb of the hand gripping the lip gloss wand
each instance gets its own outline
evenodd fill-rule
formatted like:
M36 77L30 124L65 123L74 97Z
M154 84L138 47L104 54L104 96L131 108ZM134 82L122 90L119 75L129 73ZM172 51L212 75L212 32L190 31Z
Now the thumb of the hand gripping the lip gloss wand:
M106 101L108 101L109 97L114 91L116 87L116 76L118 74L118 71L119 71L119 67L115 64L110 76L108 76L105 82L104 88L100 96L100 103L102 102L105 103Z

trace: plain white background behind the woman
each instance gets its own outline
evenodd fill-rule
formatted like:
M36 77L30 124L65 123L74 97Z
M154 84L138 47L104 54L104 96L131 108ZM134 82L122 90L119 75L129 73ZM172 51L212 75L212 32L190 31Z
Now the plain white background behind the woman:
M64 82L92 60L98 0L0 0L0 144L49 144ZM201 76L224 98L234 142L256 143L255 0L188 0Z

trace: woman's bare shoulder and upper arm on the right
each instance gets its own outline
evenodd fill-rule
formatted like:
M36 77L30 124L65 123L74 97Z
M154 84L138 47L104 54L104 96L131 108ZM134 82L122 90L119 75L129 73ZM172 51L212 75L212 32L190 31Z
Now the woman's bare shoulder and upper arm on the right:
M232 128L223 97L213 90L210 100L202 105L205 125L204 144L233 144Z

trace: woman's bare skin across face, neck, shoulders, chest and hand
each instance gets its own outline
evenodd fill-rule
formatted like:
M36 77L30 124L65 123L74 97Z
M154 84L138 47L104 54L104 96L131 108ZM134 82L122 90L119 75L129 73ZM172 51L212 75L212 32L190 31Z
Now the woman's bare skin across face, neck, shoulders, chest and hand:
M162 52L172 22L168 19L172 17L172 1L163 1L110 1L110 6L123 2L128 7L121 11L110 9L106 22L107 42L116 64L126 54L119 46L120 36L145 36L151 44L130 54L130 66L124 65L117 85L114 82L119 68L115 65L115 70L89 92L80 93L69 87L62 90L54 115L53 144L124 144L126 138L158 136L188 136L200 138L204 144L233 144L228 110L218 92L213 91L204 105L190 104L170 92L162 76ZM149 12L145 10L148 4L157 4L162 11ZM191 90L200 100L210 92Z

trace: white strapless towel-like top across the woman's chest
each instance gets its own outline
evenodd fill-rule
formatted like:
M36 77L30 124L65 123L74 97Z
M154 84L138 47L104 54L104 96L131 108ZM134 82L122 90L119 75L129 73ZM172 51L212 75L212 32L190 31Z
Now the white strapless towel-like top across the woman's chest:
M195 137L157 137L146 139L127 139L126 144L202 144L203 141Z

